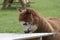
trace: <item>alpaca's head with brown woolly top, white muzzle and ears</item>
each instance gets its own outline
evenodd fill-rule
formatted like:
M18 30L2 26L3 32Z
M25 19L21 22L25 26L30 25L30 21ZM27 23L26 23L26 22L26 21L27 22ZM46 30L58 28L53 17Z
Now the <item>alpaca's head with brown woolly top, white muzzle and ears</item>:
M34 24L33 14L34 12L30 8L20 10L19 22L22 24L25 33L34 32L37 29L37 26Z

